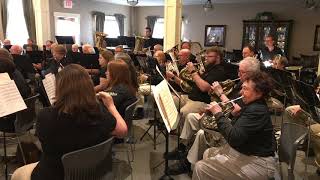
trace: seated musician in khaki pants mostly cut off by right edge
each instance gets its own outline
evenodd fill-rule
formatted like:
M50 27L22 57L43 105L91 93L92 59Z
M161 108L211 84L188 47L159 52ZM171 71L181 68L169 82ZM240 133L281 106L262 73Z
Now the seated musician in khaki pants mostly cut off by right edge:
M317 77L316 81L313 84L316 96L319 99L320 94L320 76ZM314 107L316 114L319 114L319 107ZM292 105L286 108L285 110L285 120L288 120L290 123L296 123L308 127L310 125L310 147L313 149L315 154L315 162L318 167L317 172L320 175L320 122L317 119L313 119L310 113L302 109L300 105Z

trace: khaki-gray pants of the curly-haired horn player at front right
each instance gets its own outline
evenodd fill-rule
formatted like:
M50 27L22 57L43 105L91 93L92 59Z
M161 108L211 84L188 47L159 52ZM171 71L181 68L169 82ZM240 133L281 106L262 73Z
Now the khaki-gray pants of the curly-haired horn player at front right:
M226 144L206 150L203 160L195 165L192 179L280 179L277 166L274 157L247 156Z

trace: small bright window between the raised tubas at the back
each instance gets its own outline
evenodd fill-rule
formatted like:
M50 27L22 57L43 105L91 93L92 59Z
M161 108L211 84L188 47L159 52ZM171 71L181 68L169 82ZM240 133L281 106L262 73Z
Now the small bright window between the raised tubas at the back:
M120 36L119 24L114 16L106 16L104 21L103 32L108 38L116 38Z

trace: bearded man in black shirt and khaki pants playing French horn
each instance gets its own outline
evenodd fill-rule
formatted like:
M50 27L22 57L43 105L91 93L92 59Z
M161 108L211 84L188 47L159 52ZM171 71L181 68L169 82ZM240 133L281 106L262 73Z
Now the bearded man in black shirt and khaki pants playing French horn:
M209 48L206 50L206 62L205 72L200 74L193 63L187 64L187 70L191 74L192 90L188 94L185 102L181 102L182 121L189 113L200 112L201 109L206 107L210 103L210 96L208 92L210 90L210 84L214 81L226 80L224 73L224 66L222 63L222 52L216 48ZM180 80L181 83L181 80Z

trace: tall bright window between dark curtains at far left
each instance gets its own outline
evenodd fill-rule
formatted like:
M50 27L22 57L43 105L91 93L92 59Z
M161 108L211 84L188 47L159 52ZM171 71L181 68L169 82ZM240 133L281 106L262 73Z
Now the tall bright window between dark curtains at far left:
M22 46L29 38L22 8L22 0L8 0L8 24L6 37L11 44Z

